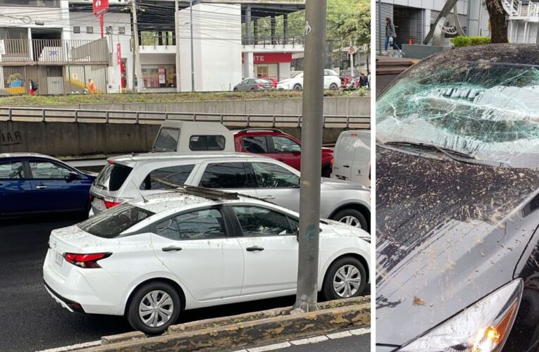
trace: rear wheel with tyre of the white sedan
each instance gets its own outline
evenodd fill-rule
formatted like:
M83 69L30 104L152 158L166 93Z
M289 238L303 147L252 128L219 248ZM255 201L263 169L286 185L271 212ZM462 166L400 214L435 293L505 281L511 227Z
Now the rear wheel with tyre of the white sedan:
M128 308L130 325L144 334L161 334L180 315L178 292L166 282L149 282L137 289Z

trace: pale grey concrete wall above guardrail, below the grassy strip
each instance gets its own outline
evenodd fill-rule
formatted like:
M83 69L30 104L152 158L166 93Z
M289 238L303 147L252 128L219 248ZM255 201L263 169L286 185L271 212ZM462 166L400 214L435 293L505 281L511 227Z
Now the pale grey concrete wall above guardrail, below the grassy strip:
M94 110L159 111L186 113L239 113L301 115L302 99L259 99L230 101L182 101L171 103L75 104L69 106L33 106ZM324 98L324 115L371 115L371 99L358 96Z

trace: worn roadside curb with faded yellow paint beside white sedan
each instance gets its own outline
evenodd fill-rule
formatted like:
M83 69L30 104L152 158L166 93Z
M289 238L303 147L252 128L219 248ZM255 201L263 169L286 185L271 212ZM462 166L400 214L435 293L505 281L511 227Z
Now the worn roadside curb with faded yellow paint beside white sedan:
M292 307L174 325L163 335L129 332L101 338L101 346L77 351L222 351L269 344L346 327L371 325L371 297L328 301L320 310L291 314Z

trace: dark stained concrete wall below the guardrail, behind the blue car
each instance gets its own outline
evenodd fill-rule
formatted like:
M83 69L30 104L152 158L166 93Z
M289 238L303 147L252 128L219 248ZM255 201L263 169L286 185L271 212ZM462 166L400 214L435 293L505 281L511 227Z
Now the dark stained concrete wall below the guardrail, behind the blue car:
M149 151L159 125L0 121L0 153L89 156ZM301 129L281 130L301 138ZM342 128L326 128L324 143L335 143Z

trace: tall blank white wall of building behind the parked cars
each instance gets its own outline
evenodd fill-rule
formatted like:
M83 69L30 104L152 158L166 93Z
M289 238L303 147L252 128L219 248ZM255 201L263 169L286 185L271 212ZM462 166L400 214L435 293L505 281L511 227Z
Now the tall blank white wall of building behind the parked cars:
M191 90L189 21L189 9L180 11L180 89L182 92ZM223 23L226 25L222 25ZM193 6L195 90L199 92L228 90L242 80L241 37L240 5L197 4Z

